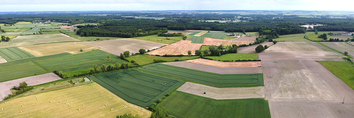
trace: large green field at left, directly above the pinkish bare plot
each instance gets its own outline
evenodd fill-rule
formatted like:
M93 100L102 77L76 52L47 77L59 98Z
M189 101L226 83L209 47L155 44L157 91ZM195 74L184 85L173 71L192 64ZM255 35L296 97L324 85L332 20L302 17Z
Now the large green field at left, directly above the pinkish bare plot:
M118 56L111 54L110 61L107 61L107 52L102 50L93 50L82 52L80 54L62 53L56 55L26 58L23 60L0 63L0 70L8 70L0 74L0 82L12 79L32 76L34 74L43 74L55 70L71 72L86 69L90 72L94 64L99 67L102 64L112 65L115 63L127 63L120 60ZM130 63L131 64L131 63ZM66 74L66 73L65 73ZM70 73L69 76L79 73Z

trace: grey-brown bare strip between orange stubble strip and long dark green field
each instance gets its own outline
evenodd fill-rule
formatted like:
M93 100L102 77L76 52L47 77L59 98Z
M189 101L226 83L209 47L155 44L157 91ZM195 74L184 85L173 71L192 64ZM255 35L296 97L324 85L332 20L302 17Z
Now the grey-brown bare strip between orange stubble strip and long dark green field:
M190 63L185 61L167 62L172 66L179 66L184 68L196 69L200 71L219 73L219 74L248 74L248 73L262 73L262 67L239 67L239 68L221 68L215 66L207 66L197 63Z

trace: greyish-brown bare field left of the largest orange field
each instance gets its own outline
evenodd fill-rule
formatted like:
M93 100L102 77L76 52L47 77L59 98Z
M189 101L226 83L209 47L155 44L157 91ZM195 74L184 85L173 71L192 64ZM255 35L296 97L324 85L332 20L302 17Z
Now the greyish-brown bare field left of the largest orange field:
M114 39L114 40L102 40L102 41L85 41L84 44L93 45L100 47L100 50L112 53L114 55L120 55L124 51L129 51L130 53L137 53L139 49L152 50L157 49L162 44L150 43L140 40L131 39Z

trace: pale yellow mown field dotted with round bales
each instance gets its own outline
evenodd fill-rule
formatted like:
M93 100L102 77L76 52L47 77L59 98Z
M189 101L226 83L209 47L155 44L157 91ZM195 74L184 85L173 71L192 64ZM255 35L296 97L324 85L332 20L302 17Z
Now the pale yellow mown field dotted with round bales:
M23 96L0 103L1 118L115 118L125 113L139 114L141 118L148 118L151 114L145 108L121 99L97 83Z

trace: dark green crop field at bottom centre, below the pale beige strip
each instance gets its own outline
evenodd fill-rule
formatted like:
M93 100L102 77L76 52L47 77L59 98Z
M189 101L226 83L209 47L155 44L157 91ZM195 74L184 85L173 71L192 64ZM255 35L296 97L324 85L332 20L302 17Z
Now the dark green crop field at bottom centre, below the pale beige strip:
M270 118L268 101L260 98L216 100L175 91L160 106L177 118Z

